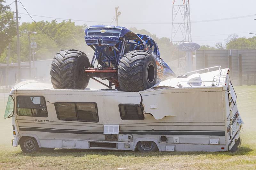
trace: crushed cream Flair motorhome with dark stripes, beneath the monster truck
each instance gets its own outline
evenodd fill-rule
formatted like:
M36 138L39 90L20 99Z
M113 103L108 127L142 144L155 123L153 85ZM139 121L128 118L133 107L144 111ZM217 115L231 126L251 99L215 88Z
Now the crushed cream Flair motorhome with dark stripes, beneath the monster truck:
M16 85L4 117L13 146L150 151L230 151L243 123L228 68L211 67L140 92Z

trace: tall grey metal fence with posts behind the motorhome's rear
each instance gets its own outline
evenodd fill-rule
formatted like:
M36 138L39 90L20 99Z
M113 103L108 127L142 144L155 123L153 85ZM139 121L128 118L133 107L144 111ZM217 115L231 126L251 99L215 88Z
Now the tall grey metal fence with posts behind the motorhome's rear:
M196 51L196 69L213 66L229 68L235 85L256 84L256 49Z

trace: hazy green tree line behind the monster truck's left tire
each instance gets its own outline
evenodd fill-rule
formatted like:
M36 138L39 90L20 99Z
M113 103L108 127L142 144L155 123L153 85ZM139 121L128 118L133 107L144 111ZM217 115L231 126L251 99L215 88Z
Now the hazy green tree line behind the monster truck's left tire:
M20 25L20 58L21 61L29 61L29 43L28 32L36 32L30 34L31 42L37 43L35 48L35 59L45 60L52 59L53 56L61 49L77 49L89 53L88 57L92 57L93 50L85 44L84 29L87 25L75 25L74 22L62 21L58 23L56 20L39 21L37 24L56 40L57 43L49 38L40 28L34 23L22 23ZM17 62L17 40L12 39L11 43L11 58L10 62ZM0 55L0 62L5 62L6 52Z

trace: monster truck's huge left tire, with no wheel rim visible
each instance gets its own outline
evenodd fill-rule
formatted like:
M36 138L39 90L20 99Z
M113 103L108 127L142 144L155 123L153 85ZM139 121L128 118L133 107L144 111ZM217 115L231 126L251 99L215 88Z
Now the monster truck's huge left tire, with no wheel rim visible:
M51 81L54 89L85 89L90 77L84 73L84 67L89 66L85 53L61 50L52 60Z

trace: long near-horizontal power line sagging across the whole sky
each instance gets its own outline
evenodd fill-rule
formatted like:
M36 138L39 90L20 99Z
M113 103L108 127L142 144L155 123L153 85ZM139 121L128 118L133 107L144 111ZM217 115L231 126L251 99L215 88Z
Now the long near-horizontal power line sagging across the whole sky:
M18 12L19 14L28 15L26 13ZM41 16L41 15L32 15L36 17L43 17L43 18L52 18L52 19L62 19L62 20L69 20L68 18L56 18L56 17L48 17L48 16ZM191 21L191 23L204 23L204 22L213 22L213 21L224 21L224 20L232 20L232 19L240 19L240 18L248 18L248 17L256 17L256 14L252 15L244 15L238 17L230 17L230 18L219 18L219 19L209 19L209 20L199 20L199 21ZM91 20L79 20L79 19L70 19L72 21L81 21L81 22L93 22L93 23L109 23L105 21L91 21ZM172 22L148 22L148 23L141 23L141 22L120 22L121 24L138 24L138 25L155 25L155 24L172 24Z

